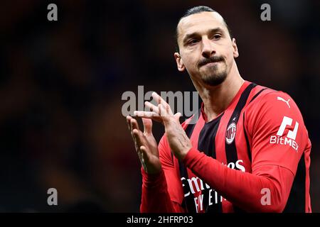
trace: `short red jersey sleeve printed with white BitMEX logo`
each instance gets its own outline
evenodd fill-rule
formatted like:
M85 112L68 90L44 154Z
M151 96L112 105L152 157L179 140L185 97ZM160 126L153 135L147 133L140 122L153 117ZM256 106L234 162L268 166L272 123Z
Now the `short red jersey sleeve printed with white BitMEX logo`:
M271 92L253 101L247 111L252 138L252 172L262 165L278 165L294 175L309 138L302 114L284 92Z

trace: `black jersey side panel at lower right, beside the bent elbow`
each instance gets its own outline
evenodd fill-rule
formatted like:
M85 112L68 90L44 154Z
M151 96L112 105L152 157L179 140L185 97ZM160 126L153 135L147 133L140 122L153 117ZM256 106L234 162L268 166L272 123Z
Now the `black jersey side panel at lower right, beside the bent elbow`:
M304 213L306 203L306 162L304 154L300 158L296 176L291 187L287 205L284 207L285 213Z

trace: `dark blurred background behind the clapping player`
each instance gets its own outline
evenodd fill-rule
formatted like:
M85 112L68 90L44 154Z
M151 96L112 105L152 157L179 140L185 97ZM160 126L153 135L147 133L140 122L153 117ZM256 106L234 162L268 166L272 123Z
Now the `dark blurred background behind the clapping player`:
M58 6L48 21L47 6ZM261 21L260 6L271 6ZM176 70L175 28L210 6L237 39L244 79L290 94L312 143L320 211L320 1L1 1L0 212L137 212L140 165L122 94L194 91ZM163 128L154 124L154 135ZM48 206L47 190L58 190Z

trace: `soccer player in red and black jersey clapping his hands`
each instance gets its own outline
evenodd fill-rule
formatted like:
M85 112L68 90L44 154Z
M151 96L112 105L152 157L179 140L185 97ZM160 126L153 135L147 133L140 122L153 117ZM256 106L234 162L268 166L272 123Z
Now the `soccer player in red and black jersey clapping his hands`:
M140 211L311 212L311 142L297 104L240 77L235 38L213 9L189 9L176 33L178 70L188 71L203 103L181 125L154 92L158 105L134 112L144 132L127 116L142 162ZM165 128L159 145L153 120Z

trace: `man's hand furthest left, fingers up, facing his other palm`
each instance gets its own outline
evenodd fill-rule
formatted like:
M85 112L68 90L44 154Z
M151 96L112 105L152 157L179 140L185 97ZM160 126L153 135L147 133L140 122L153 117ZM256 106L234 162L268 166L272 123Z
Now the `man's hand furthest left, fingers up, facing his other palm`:
M158 144L154 135L152 135L152 120L142 118L142 122L144 123L143 133L139 130L137 120L131 116L127 116L128 128L134 140L142 167L146 173L153 175L161 172Z

